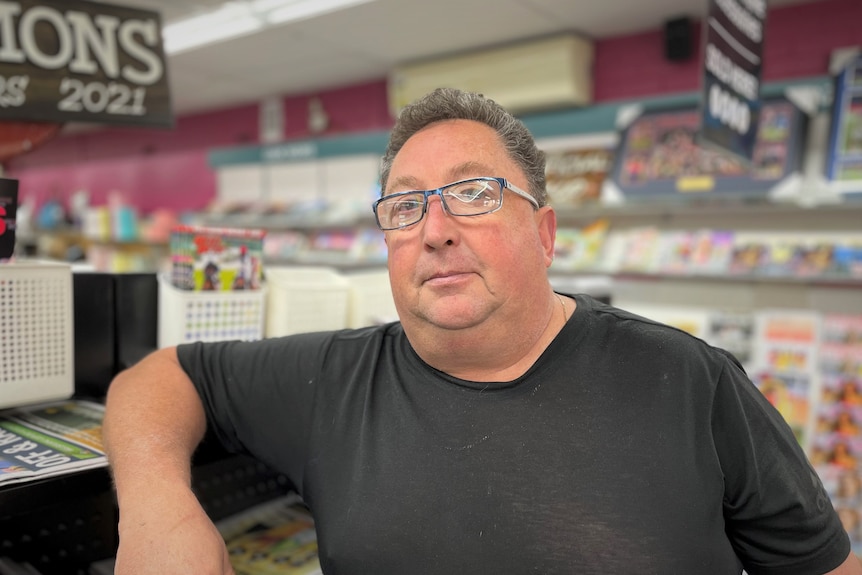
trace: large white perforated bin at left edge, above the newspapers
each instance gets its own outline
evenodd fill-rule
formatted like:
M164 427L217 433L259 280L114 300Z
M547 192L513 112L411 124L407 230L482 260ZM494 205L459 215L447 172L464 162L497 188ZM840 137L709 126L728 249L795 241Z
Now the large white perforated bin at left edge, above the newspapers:
M72 396L73 321L70 265L0 264L0 408Z

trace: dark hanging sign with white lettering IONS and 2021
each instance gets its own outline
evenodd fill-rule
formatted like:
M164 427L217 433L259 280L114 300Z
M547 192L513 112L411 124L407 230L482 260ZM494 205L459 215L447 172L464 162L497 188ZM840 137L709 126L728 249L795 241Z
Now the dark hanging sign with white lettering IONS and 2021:
M0 120L173 125L157 12L0 0Z

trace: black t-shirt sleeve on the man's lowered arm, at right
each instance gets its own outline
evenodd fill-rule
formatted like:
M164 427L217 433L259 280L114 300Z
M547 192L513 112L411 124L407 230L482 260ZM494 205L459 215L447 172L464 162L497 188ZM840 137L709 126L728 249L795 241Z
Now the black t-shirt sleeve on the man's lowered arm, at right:
M731 543L750 575L838 567L850 541L817 473L781 414L732 361L712 409Z

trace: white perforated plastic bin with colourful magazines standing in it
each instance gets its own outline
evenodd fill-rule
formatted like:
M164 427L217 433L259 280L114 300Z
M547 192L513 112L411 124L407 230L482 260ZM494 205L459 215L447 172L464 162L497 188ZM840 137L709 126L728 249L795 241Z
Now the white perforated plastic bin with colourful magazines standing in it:
M259 290L189 291L159 275L158 346L263 337L266 286Z

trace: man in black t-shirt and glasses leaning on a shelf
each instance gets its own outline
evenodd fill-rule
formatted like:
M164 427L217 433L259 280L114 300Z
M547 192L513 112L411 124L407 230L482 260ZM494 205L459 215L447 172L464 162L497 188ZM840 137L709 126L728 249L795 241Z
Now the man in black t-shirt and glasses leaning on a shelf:
M729 354L553 291L521 122L437 90L381 183L400 322L164 349L113 382L118 575L232 572L189 487L207 425L290 478L327 574L862 574Z

